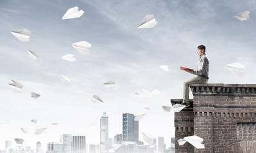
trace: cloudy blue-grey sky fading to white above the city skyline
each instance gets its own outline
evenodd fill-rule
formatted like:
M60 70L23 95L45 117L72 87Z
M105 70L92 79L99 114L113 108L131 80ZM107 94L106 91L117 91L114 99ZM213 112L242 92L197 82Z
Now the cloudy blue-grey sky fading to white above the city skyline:
M62 20L74 6L80 18ZM164 136L166 147L175 136L174 114L162 106L182 99L182 85L195 75L180 66L196 69L198 45L205 45L210 61L209 84L255 84L256 1L173 0L1 0L0 1L0 149L4 142L23 138L24 146L40 141L60 142L61 134L86 135L86 142L99 143L99 120L109 116L109 137L122 133L122 113L140 115L141 132ZM241 22L234 16L250 11ZM154 28L139 29L145 15L154 14ZM10 32L26 28L30 41L21 42ZM88 41L90 55L81 55L72 43ZM28 50L38 53L36 61ZM61 57L74 54L75 62ZM236 77L225 64L241 62L244 76ZM161 65L170 71L163 71ZM67 87L60 75L70 78ZM24 85L21 93L8 87L11 80ZM116 89L102 84L113 80ZM160 94L138 97L141 89ZM31 92L40 98L31 98ZM93 103L97 94L104 101ZM193 94L189 94L193 98ZM145 110L144 107L150 107ZM34 124L31 119L37 119ZM51 125L58 122L57 126ZM88 127L95 123L95 127ZM35 128L45 128L35 135ZM20 128L28 128L27 134ZM147 143L146 143L147 144Z

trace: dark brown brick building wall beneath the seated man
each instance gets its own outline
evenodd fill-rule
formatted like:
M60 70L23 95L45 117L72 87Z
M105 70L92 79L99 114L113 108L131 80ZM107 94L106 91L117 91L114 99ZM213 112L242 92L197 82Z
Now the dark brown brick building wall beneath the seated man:
M252 149L256 142L256 85L193 84L191 91L193 106L175 113L175 140L196 135L204 139L205 149L192 146L191 151L191 145L176 142L176 152L230 153L239 147L243 150L245 145ZM182 99L171 101L174 104ZM184 127L193 130L179 132Z

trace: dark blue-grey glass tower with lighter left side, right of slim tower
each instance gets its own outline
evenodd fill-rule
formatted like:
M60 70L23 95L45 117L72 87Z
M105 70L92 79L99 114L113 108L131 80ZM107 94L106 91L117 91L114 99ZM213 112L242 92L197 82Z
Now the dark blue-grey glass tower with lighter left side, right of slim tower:
M123 142L139 142L139 121L131 113L123 113Z

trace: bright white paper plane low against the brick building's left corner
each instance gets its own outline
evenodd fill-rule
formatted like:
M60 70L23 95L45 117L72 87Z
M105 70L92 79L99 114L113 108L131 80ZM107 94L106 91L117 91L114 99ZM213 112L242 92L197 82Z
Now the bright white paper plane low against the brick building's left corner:
M202 144L203 141L204 139L196 135L186 136L184 139L178 140L179 145L184 145L184 143L189 142L191 145L196 147L196 149L204 149L204 144Z

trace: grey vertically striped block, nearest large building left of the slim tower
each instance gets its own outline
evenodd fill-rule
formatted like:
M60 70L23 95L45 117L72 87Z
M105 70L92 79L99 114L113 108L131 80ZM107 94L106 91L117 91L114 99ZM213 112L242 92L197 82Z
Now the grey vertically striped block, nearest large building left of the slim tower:
M85 153L85 151L86 151L85 136L73 136L72 153Z

